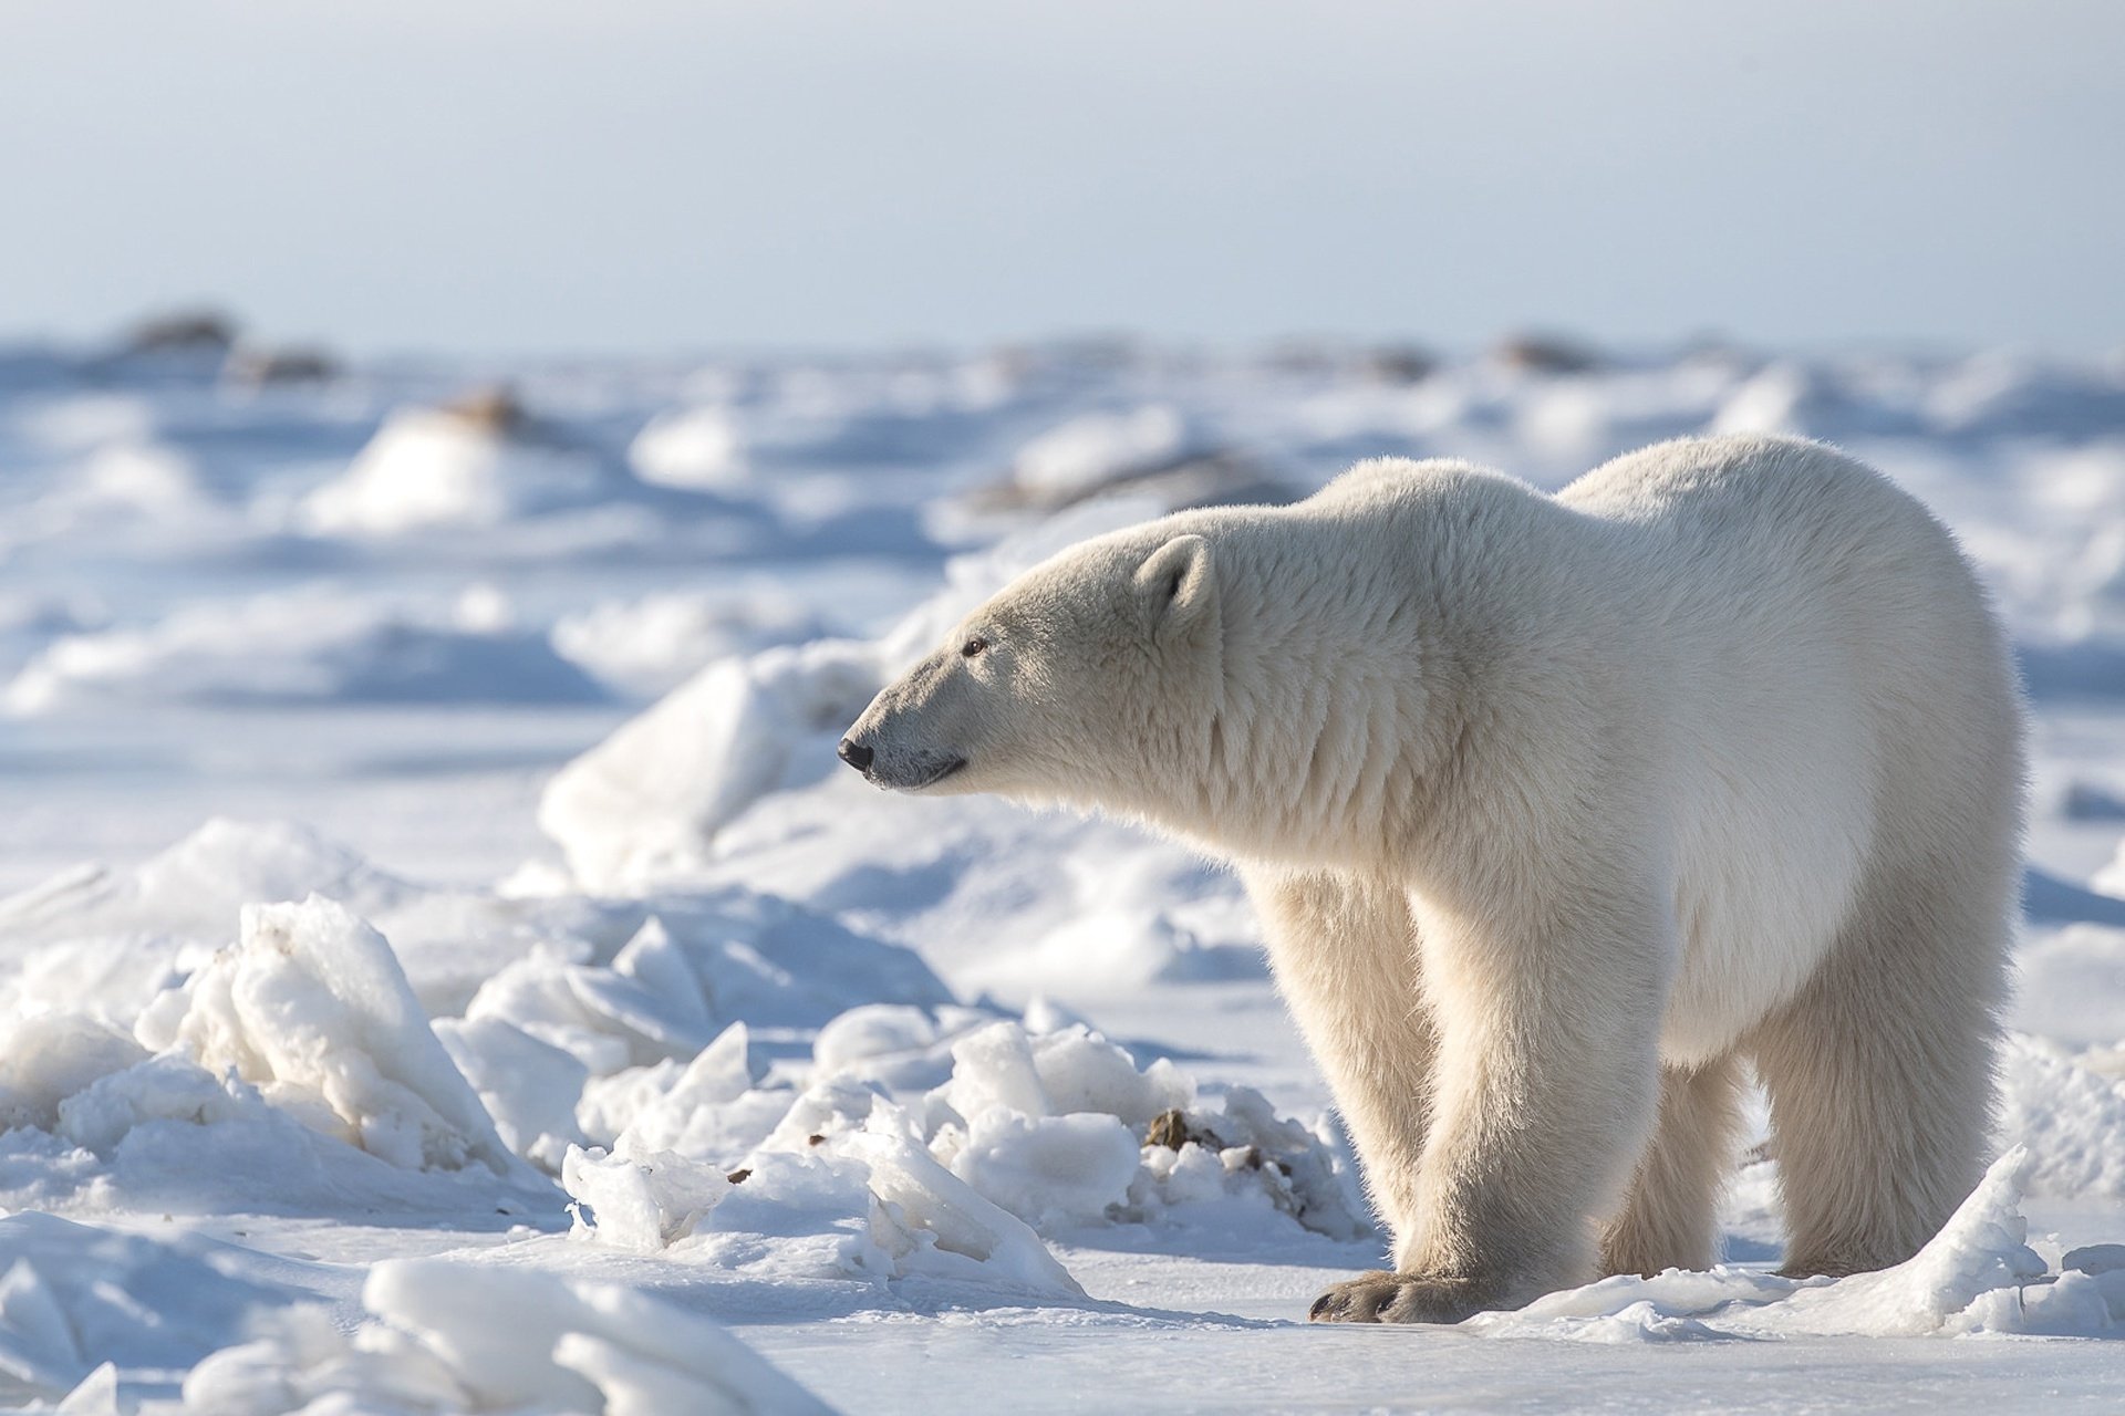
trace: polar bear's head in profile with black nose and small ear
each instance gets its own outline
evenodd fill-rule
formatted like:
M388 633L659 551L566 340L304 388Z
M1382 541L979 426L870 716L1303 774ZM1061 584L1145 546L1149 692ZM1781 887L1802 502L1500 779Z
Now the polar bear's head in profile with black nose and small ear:
M1179 785L1216 713L1211 543L1154 522L1026 571L890 684L842 760L901 792L1133 809Z

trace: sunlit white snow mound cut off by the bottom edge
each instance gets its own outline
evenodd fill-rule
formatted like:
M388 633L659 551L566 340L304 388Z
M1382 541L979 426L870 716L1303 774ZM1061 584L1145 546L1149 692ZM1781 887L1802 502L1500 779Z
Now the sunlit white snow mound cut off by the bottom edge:
M185 1408L291 1412L659 1412L808 1416L829 1408L708 1318L546 1274L393 1259L353 1333L321 1308L202 1361Z

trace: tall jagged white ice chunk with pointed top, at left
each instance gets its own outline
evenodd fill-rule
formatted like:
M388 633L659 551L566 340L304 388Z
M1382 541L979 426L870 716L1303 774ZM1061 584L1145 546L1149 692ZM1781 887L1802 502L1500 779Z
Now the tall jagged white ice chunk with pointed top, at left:
M240 940L157 998L134 1032L393 1165L514 1170L391 945L321 896L246 904Z

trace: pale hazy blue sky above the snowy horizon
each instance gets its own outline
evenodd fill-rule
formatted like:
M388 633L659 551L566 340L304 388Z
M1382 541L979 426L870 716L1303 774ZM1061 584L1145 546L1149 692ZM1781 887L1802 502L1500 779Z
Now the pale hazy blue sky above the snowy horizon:
M0 0L0 333L2125 342L2119 0Z

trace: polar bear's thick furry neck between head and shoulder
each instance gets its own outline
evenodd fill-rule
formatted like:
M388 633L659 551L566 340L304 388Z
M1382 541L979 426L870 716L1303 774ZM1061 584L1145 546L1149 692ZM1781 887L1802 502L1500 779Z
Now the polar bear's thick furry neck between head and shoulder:
M1220 856L1392 870L1470 705L1511 701L1490 679L1515 673L1515 626L1568 614L1545 541L1570 520L1522 484L1456 476L1224 522L1218 703L1201 762L1143 815Z

